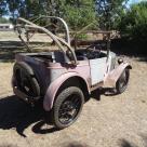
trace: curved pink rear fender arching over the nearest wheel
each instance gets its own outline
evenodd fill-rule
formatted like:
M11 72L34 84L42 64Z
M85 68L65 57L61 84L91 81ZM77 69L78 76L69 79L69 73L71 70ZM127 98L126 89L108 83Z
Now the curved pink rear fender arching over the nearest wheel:
M45 96L44 96L44 99L43 99L44 110L50 111L52 109L58 89L67 79L71 78L71 77L82 78L86 83L88 91L90 92L88 81L83 77L81 77L78 72L64 74L49 85Z

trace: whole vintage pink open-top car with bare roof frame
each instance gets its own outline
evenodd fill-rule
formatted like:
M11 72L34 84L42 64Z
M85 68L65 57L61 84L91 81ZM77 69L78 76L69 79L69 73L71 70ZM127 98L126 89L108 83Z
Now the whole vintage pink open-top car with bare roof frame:
M107 50L103 50L99 43L74 50L65 21L42 17L61 21L65 26L66 39L19 17L15 28L28 50L28 43L22 38L24 30L46 34L58 50L16 54L12 85L14 93L27 103L35 104L42 99L43 109L52 116L54 125L64 129L78 119L92 91L113 88L117 93L124 92L132 67L122 58L116 62L116 54L110 52L110 32L99 31L107 35Z

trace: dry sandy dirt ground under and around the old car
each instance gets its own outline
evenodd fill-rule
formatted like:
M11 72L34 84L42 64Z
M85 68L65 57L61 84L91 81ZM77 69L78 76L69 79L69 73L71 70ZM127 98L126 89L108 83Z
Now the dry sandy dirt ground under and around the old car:
M147 147L147 62L125 58L133 66L128 90L120 95L95 91L78 121L62 131L44 123L41 108L13 95L13 63L1 62L0 147Z

